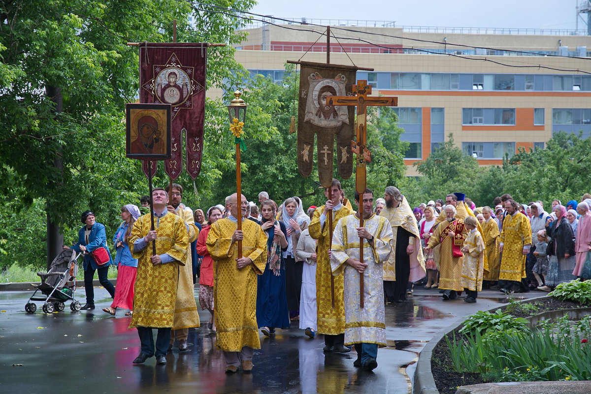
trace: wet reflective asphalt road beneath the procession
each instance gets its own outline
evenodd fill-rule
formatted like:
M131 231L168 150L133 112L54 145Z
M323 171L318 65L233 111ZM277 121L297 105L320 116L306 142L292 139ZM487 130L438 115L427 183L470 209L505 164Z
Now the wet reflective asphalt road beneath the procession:
M196 291L197 292L197 291ZM83 298L80 291L78 298ZM324 354L322 336L304 336L294 323L277 336L261 338L252 373L224 373L222 352L207 327L189 331L189 351L175 345L166 365L132 366L139 353L136 330L123 311L111 317L103 288L95 289L96 310L27 314L30 292L0 292L0 392L62 393L82 385L85 394L125 393L409 393L414 363L437 331L480 309L498 305L487 294L479 304L443 302L433 292L386 307L387 344L373 373L353 367L355 351ZM418 293L418 294L417 294ZM487 298L488 297L488 298ZM201 312L202 322L209 312ZM23 366L13 366L23 364ZM407 367L408 366L408 367Z

